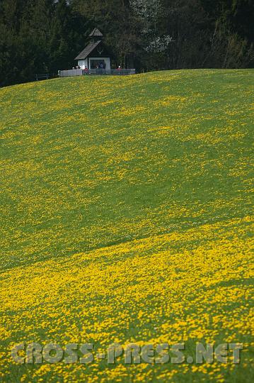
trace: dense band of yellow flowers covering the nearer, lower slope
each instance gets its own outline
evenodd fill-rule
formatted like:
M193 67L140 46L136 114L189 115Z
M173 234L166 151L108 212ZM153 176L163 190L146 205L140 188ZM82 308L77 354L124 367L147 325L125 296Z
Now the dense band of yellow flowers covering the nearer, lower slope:
M4 272L0 326L10 344L1 353L1 377L10 374L13 339L94 343L100 351L113 342L245 343L254 323L246 284L253 277L249 230L246 217ZM122 360L103 368L60 362L26 365L21 382L149 382L154 376L166 382L190 372L223 382L233 368L218 362L163 369Z

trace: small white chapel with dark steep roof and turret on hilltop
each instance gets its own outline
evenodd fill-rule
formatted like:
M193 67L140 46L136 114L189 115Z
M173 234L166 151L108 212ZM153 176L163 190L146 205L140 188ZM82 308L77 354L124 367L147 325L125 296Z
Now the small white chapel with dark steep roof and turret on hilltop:
M89 35L89 43L86 47L76 56L78 65L81 69L88 68L110 70L110 56L103 45L103 34L94 28Z

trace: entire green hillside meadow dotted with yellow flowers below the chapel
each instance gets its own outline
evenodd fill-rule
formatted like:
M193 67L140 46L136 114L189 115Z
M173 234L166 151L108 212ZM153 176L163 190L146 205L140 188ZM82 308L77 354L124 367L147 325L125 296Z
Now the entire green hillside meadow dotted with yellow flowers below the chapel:
M179 70L0 89L1 382L253 382L253 86ZM18 365L31 342L243 350Z

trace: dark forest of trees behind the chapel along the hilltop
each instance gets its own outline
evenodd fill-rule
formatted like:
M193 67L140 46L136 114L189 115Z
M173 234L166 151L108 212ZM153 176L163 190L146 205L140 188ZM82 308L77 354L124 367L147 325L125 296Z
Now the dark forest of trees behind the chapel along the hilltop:
M0 0L0 85L76 65L98 27L137 72L254 66L252 0Z

